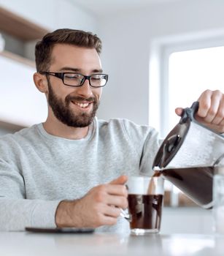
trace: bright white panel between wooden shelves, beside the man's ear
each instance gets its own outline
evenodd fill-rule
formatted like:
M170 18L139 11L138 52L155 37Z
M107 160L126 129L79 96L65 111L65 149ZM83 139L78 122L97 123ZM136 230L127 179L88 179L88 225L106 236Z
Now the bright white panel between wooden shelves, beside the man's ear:
M47 101L33 82L33 67L0 56L0 118L12 124L30 126L47 118ZM10 74L7 73L10 71Z

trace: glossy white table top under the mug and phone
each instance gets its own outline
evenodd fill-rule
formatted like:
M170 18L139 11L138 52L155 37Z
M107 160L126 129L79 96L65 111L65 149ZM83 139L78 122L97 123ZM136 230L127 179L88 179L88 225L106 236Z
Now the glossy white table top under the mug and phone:
M1 256L72 255L224 255L224 236L109 233L65 234L1 232Z

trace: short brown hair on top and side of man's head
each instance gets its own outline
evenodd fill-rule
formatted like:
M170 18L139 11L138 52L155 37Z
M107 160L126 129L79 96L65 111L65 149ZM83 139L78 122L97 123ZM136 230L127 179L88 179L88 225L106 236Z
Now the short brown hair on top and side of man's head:
M36 70L48 71L51 61L51 53L55 44L76 45L84 48L95 48L101 53L101 39L90 32L74 29L57 29L48 33L41 41L36 43L35 60Z

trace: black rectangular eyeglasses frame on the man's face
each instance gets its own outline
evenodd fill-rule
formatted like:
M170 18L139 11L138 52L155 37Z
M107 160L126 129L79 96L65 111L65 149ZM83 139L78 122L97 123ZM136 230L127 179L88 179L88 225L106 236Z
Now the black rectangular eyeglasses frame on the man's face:
M53 75L56 78L60 78L65 86L71 86L71 85L64 83L64 75L66 75L66 74L81 75L83 78L82 78L82 80L80 82L80 85L79 86L71 86L71 87L80 87L80 86L83 85L83 83L85 83L85 80L88 80L91 87L93 87L93 88L100 88L100 87L106 86L107 80L108 80L108 75L107 74L101 74L101 73L93 74L93 75L82 75L82 74L76 73L76 72L46 72L46 71L44 72L44 71L39 71L39 73L42 74L42 75ZM91 80L90 79L94 75L104 75L105 76L106 83L104 84L104 86L92 86L91 85Z

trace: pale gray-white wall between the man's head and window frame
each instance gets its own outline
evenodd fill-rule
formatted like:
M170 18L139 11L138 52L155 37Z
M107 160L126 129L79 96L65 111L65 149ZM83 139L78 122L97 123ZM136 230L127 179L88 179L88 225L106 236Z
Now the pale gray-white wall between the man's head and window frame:
M102 59L109 82L99 117L148 124L150 44L161 37L224 29L223 10L224 1L188 0L101 17Z

